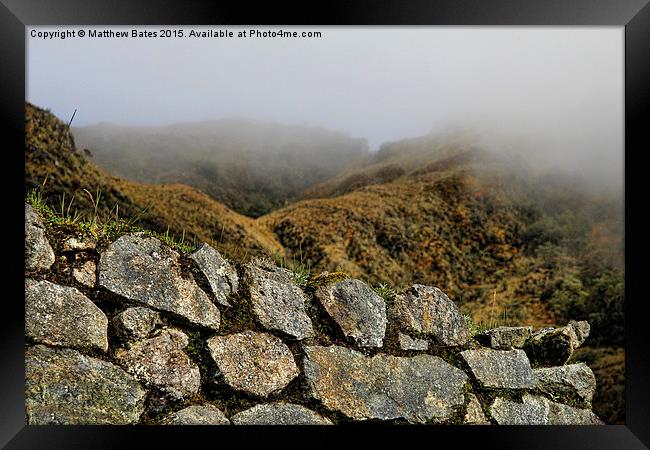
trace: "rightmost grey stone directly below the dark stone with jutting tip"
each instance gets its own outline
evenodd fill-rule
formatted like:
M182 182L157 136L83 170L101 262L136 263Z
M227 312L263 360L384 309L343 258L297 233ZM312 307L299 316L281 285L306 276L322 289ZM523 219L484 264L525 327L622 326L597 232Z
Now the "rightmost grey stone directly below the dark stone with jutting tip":
M589 406L596 390L596 377L584 363L534 369L535 388L551 397L578 399Z

